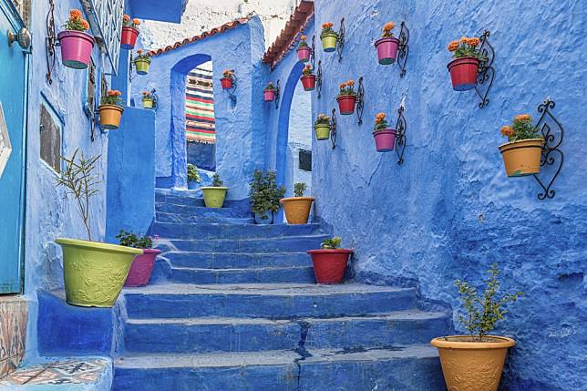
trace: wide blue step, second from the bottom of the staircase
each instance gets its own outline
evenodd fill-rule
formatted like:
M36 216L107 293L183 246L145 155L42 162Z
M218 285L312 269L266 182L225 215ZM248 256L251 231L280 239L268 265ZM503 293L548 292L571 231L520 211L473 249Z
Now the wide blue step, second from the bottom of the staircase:
M125 346L133 353L287 350L298 347L303 333L308 349L427 344L449 333L449 320L444 313L417 310L330 319L130 319Z

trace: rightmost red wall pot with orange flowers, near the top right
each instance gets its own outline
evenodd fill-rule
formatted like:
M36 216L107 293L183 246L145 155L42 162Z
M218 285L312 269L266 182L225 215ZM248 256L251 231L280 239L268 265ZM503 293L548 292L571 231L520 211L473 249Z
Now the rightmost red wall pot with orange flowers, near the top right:
M448 63L448 72L452 87L456 91L467 91L477 86L479 63L485 57L477 49L479 38L463 36L458 41L448 44L448 51L453 52L454 60Z

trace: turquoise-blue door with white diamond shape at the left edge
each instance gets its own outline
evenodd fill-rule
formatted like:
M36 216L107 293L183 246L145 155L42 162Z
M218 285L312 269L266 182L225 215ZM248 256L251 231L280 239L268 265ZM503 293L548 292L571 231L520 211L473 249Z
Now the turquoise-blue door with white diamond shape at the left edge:
M22 27L11 1L0 0L0 293L21 292L27 55L8 32Z

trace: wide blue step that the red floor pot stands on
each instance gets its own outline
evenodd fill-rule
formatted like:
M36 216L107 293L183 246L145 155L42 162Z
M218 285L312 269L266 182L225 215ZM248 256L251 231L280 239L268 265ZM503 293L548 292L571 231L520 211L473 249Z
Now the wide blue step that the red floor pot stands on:
M416 307L414 288L345 283L180 284L123 291L129 318L360 316Z

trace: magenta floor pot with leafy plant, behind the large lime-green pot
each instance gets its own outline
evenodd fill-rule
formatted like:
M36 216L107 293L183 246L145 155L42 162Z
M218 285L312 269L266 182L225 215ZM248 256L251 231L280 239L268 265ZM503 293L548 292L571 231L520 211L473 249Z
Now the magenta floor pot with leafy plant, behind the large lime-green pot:
M142 250L130 265L129 276L124 286L145 286L149 283L150 274L153 273L153 265L160 250L153 250L153 239L150 236L137 236L134 233L120 230L116 235L121 246ZM155 236L155 239L158 237Z

